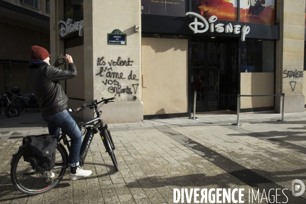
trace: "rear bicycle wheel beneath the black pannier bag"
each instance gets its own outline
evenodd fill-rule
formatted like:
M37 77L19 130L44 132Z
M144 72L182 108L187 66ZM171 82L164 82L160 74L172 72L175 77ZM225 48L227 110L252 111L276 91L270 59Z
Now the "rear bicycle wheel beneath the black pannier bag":
M30 162L24 161L24 155L29 154L28 148L17 152L12 161L11 180L13 185L21 192L28 195L45 193L57 186L65 174L68 165L66 149L59 144L56 149L56 166L50 171L36 172ZM52 175L54 176L52 177Z

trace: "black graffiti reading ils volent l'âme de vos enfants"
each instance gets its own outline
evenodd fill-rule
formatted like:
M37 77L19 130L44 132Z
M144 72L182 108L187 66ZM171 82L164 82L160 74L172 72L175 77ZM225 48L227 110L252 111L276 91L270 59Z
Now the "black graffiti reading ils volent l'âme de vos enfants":
M121 94L136 94L139 87L139 79L137 79L137 75L133 73L133 70L127 69L127 74L126 69L124 69L124 73L113 70L114 66L128 68L133 65L133 62L130 58L123 60L121 57L118 57L115 61L106 61L104 57L98 58L97 66L100 66L100 69L96 75L104 78L102 83L103 85L108 85L107 90L110 93L115 93L118 96L121 96ZM133 99L136 98L136 96L133 97Z

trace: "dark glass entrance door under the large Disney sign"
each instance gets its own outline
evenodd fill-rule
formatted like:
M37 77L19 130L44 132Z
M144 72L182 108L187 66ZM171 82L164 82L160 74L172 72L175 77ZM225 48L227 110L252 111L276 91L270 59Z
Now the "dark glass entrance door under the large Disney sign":
M192 92L197 91L196 112L234 108L237 94L237 42L192 42ZM192 93L192 101L193 101Z

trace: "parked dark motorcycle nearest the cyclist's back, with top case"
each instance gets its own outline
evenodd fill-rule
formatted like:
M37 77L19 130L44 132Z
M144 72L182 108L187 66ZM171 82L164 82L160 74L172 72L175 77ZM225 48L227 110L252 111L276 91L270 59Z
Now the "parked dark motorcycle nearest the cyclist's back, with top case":
M13 101L13 104L17 106L20 111L28 111L28 108L38 108L37 99L34 94L24 95L20 94L20 87L14 86L11 88L12 93L17 94L16 99Z

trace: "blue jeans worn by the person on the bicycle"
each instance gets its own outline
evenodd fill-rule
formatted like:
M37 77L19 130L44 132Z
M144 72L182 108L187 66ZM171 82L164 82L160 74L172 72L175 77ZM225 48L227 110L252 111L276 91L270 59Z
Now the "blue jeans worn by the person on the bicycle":
M67 110L52 115L42 116L48 124L49 135L60 137L60 129L71 139L68 166L79 166L79 155L82 145L82 133Z

